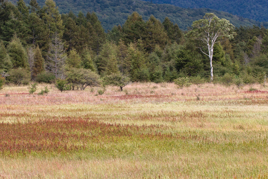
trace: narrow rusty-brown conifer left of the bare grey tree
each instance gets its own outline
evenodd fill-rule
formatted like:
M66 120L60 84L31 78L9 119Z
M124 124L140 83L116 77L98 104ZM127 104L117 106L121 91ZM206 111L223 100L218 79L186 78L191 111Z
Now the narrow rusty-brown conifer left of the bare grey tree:
M38 74L44 71L44 59L42 57L41 50L39 46L35 48L35 53L33 56L33 70L32 70L32 79L35 79Z

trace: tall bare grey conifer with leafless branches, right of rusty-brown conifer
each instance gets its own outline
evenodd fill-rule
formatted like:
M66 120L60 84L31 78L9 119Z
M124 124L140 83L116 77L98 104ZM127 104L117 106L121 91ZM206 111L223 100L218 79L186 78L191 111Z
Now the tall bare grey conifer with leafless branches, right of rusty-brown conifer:
M47 53L47 68L55 77L62 75L62 66L66 58L64 44L59 34L55 32L52 35L51 43L49 43L49 52Z

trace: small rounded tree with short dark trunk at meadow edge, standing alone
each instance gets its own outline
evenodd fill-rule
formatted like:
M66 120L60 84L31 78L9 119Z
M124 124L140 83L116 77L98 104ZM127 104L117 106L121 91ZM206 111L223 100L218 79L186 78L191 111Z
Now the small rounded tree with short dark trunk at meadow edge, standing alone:
M120 87L121 91L123 91L123 87L131 84L130 78L121 73L111 73L111 75L106 76L105 81L109 85Z

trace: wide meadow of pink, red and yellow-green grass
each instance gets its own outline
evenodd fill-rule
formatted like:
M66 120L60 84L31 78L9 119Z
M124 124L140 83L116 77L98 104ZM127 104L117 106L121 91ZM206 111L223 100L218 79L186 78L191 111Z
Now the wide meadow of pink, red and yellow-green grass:
M268 178L267 87L96 90L4 86L0 179Z

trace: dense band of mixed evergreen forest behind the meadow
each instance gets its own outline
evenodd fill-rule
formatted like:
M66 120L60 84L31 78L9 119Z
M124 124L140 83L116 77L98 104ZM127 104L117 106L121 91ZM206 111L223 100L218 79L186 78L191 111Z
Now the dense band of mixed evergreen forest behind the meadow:
M133 12L107 33L96 13L60 14L53 0L41 8L1 1L1 83L31 81L63 84L62 90L130 82L209 82L209 58L198 42L168 17L148 20ZM268 74L264 27L235 28L236 36L214 45L213 83L263 83ZM119 81L120 84L114 81Z

